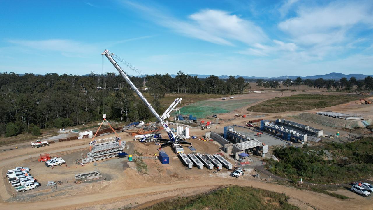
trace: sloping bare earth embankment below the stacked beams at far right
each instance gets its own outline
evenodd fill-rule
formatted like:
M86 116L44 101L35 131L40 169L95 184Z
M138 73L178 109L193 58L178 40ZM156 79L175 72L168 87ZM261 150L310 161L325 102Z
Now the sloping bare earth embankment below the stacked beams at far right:
M310 114L303 112L299 116L295 116L294 118L298 120L307 121L310 123L316 123L324 126L334 127L334 128L349 128L353 129L354 127L364 127L361 121L350 121L350 120L343 120L333 117L327 117L318 114Z

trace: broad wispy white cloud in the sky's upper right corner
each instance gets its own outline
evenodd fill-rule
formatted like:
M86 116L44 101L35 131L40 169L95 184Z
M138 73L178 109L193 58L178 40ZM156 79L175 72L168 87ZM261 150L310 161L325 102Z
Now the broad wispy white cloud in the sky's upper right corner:
M323 7L302 7L297 17L278 27L300 44L340 43L357 24L373 26L372 6L372 1L334 1Z

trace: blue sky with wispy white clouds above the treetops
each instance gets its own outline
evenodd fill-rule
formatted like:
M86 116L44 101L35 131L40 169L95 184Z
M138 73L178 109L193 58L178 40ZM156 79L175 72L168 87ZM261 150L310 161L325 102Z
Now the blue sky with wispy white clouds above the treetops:
M373 74L373 1L0 1L0 71ZM105 58L105 72L116 72ZM125 69L128 74L136 75Z

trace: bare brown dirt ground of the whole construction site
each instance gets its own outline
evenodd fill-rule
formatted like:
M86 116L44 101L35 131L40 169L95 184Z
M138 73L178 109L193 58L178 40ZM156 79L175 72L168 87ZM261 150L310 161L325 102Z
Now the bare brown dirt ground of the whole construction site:
M274 97L299 93L304 92L250 93L237 95L234 99L227 100L260 99L260 101L250 104L250 106L252 106ZM278 116L286 118L304 112L268 114L248 112L247 108L248 106L243 105L242 108L236 109L234 112L220 115L219 118L226 121L220 124L214 124L214 126L211 126L211 130L222 133L223 126L230 124L243 126L247 121L258 118L257 116L265 116L266 119L274 119ZM367 117L373 118L372 106L360 105L354 102L320 110L363 113ZM306 112L316 112L320 110L307 110ZM247 117L234 118L234 114L247 114ZM233 120L228 121L228 119L232 118ZM330 131L328 130L330 133L335 132L332 128L327 129L330 129ZM167 136L164 131L161 133L163 136ZM191 129L190 133L191 135L203 136L206 130ZM341 133L341 135L347 134L348 132ZM31 175L41 183L41 186L38 189L32 189L25 193L16 192L14 188L9 185L6 177L3 176L3 178L0 179L0 210L23 208L29 210L101 210L118 209L125 206L137 206L137 208L139 208L167 198L194 195L228 185L253 186L285 193L291 197L288 202L299 206L301 209L372 209L373 200L370 197L364 198L347 190L341 190L341 192L337 193L347 195L351 199L341 200L325 194L278 185L270 180L257 179L252 176L254 172L245 173L244 176L237 179L232 177L229 171L214 173L215 170L208 170L206 168L197 169L196 167L193 167L191 170L186 170L186 166L184 166L182 161L179 160L178 155L176 155L170 147L163 148L170 157L170 164L162 165L158 159L154 158L154 153L157 152L159 145L155 145L154 142L144 144L134 141L132 136L128 136L125 132L119 133L119 135L122 137L122 140L126 141L125 152L134 154L136 150L143 154L142 158L148 166L147 173L138 173L134 162L128 162L126 158L111 158L105 161L96 161L96 166L93 163L78 166L75 164L75 161L76 159L80 159L82 154L84 156L85 153L87 153L88 143L91 139L56 142L50 146L37 149L31 148L27 144L22 145L22 148L7 151L3 150L15 148L18 145L1 147L0 171L3 175L6 170L17 166L29 167L31 169ZM105 137L107 138L110 136ZM220 145L214 141L204 142L197 139L189 139L188 141L192 142L192 146L197 149L197 152L210 154L220 152ZM186 146L184 146L184 151L185 153L192 152ZM46 167L44 163L39 163L37 161L39 154L47 152L51 155L58 155L64 158L67 166L56 166L51 169ZM135 158L138 157L135 156ZM228 160L234 163L232 159L228 158ZM95 168L103 174L103 178L93 182L74 183L75 173L88 172ZM51 189L46 186L49 180L61 180L63 184L58 185L57 189Z

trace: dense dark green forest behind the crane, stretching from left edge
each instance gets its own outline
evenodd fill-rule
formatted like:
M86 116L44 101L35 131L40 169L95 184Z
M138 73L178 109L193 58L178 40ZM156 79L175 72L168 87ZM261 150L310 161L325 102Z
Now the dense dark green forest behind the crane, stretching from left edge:
M148 87L153 96L151 104L163 111L159 100L166 93L236 94L248 88L245 80L230 76L227 80L211 75L206 79L192 77L179 71L169 74L131 77L135 86ZM145 84L144 84L145 81ZM15 136L22 132L40 135L40 128L63 128L102 120L102 114L114 121L147 120L151 113L135 97L121 75L105 74L45 75L13 72L0 73L0 134Z

